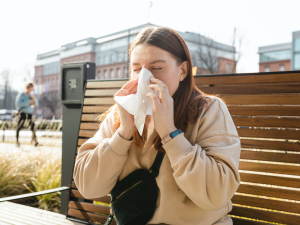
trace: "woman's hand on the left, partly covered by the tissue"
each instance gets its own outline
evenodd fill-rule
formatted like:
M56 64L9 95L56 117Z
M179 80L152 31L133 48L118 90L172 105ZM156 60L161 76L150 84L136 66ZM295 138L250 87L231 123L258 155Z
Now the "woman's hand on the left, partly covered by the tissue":
M130 94L135 94L137 91L138 78L126 83L115 96L127 96ZM117 109L120 114L120 127L118 132L120 136L124 139L129 140L134 134L136 127L134 125L134 117L128 113L122 106L117 103Z

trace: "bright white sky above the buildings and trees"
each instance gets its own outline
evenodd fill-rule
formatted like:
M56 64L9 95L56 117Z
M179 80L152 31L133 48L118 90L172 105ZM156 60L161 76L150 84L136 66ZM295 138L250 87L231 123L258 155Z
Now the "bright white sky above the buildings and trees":
M0 72L22 74L38 53L147 22L229 45L236 28L243 38L237 72L258 72L258 47L291 42L300 30L300 0L153 0L149 6L149 0L0 0Z

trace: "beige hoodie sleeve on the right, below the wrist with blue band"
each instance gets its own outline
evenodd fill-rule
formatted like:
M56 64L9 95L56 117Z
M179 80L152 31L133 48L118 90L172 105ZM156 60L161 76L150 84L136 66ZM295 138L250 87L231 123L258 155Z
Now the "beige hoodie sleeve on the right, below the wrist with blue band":
M180 134L163 148L182 191L200 208L218 210L228 204L240 184L240 139L222 100L212 98L194 132L196 143Z

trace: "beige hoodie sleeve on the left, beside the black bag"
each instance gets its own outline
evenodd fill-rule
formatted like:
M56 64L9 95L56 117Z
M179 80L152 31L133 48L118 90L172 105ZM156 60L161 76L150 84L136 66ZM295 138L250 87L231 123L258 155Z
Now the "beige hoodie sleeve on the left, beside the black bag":
M74 181L86 198L104 196L113 189L127 160L132 141L120 137L114 128L113 110L100 129L79 149L74 168Z

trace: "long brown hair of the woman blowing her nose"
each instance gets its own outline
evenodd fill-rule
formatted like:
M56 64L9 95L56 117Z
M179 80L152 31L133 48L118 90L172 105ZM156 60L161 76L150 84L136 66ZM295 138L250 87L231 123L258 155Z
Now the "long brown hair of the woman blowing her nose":
M181 65L184 61L188 62L187 76L180 82L178 89L173 95L174 123L177 129L181 129L185 132L188 123L195 123L197 121L197 118L199 118L202 110L209 100L208 95L200 91L195 85L192 74L192 58L187 44L176 31L167 27L155 26L144 28L134 38L129 48L129 57L131 57L133 49L141 44L153 45L171 53L176 59L178 65ZM105 118L107 113L113 109L113 107L105 114L101 115L101 121ZM120 127L120 116L117 110L114 111L114 118L115 128L118 129ZM147 128L144 128L142 136L140 136L136 130L133 138L137 145L142 146L147 140ZM161 138L159 136L154 139L153 144L156 150L164 152Z

